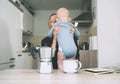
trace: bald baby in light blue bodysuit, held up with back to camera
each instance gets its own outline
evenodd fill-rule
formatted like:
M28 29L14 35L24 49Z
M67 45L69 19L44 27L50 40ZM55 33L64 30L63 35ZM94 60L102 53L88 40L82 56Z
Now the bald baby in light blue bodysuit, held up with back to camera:
M77 46L73 39L73 34L70 32L71 28L74 28L74 36L79 39L80 32L75 26L70 23L71 18L69 11L66 8L60 8L57 11L57 22L53 25L48 32L48 37L52 38L53 29L56 26L60 26L62 29L57 36L59 50L62 51L64 58L70 58L76 56Z

